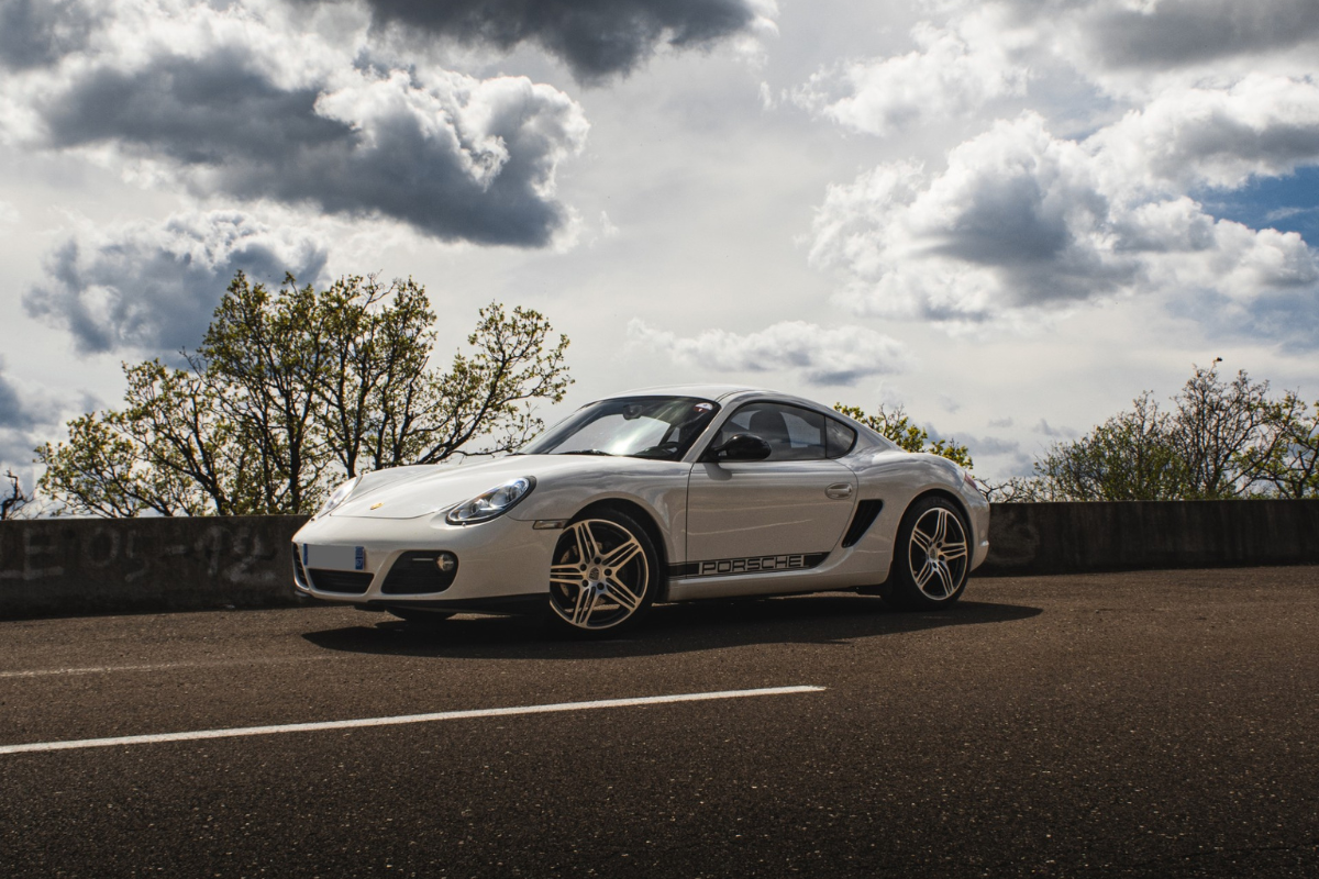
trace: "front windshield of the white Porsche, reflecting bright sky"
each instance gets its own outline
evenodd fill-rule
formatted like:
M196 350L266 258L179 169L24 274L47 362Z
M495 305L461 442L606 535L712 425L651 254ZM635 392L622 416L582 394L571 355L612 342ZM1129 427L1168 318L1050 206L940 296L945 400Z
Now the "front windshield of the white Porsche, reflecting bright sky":
M624 455L675 461L719 411L698 397L619 397L584 406L522 455Z

